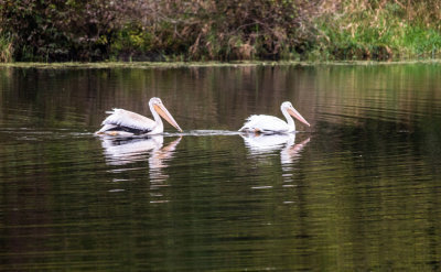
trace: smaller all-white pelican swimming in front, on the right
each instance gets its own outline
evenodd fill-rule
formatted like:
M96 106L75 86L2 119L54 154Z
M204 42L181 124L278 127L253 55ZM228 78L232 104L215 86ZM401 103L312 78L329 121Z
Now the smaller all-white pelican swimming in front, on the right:
M304 118L294 109L294 107L292 107L291 102L282 102L280 110L282 111L284 118L287 118L288 122L284 122L283 120L273 116L255 115L247 118L247 121L245 122L244 127L239 129L239 131L263 134L294 132L295 123L291 116L310 127L310 123L304 120Z

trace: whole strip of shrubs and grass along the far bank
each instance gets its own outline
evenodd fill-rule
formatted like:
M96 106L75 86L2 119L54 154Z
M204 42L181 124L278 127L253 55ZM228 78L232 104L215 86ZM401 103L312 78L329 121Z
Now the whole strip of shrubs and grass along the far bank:
M438 0L0 0L0 62L434 58Z

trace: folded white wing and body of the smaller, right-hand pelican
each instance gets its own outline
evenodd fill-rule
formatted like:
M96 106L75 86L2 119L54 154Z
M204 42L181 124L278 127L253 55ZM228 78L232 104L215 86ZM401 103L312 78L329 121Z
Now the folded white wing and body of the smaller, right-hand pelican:
M280 118L266 115L250 116L239 131L252 131L261 133L277 133L289 130L288 123Z

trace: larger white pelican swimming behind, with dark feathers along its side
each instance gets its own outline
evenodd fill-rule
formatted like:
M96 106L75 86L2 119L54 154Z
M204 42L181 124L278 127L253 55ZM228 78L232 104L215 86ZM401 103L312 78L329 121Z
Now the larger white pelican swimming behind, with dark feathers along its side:
M114 109L107 111L110 113L101 123L103 128L98 130L97 134L107 135L139 135L139 134L159 134L164 131L162 118L164 118L171 126L182 132L172 115L166 110L161 99L152 97L149 101L150 111L153 115L154 121L141 115L125 110Z

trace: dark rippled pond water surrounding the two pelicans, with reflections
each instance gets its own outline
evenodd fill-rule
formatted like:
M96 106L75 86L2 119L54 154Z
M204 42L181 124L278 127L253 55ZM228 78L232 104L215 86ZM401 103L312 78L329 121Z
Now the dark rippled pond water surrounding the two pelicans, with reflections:
M438 64L0 68L0 271L439 271L440 127Z

